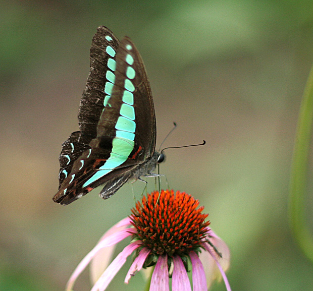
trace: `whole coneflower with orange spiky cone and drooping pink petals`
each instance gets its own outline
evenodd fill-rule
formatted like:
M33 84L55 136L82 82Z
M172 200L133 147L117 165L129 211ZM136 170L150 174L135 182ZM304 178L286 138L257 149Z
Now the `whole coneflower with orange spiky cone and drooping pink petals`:
M191 291L187 275L190 269L193 291L207 290L217 270L222 274L227 290L230 290L224 272L229 266L229 250L208 228L210 222L204 221L208 215L202 214L203 206L197 209L198 204L185 192L177 191L174 194L173 190L155 191L147 198L143 197L132 209L130 217L109 229L80 262L66 290L72 290L76 278L92 259L94 272L99 273L98 263L103 262L102 255L111 257L113 246L127 237L131 237L132 242L103 272L101 267L102 274L95 276L91 291L105 290L133 252L136 256L125 283L142 268L155 265L150 291L168 291L169 277L172 277L173 291Z

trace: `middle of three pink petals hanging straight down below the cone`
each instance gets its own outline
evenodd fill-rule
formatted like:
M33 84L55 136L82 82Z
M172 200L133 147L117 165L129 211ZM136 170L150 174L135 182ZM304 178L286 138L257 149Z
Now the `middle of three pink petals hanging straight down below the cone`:
M172 291L191 291L190 281L184 263L179 256L173 258Z

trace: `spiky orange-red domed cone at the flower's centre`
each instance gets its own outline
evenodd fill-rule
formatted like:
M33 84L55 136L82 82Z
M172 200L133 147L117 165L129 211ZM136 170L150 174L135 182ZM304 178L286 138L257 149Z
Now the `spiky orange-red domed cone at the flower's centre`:
M201 247L210 224L204 222L207 217L201 213L204 207L196 209L198 204L184 192L173 195L173 191L163 191L160 197L159 192L153 192L147 199L143 197L130 216L137 230L134 237L156 256L188 255Z

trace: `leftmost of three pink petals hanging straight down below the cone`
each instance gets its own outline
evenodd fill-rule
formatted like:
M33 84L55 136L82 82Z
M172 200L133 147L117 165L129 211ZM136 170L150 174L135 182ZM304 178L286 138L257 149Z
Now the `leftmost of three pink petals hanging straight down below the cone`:
M167 255L160 256L156 262L149 291L170 291Z

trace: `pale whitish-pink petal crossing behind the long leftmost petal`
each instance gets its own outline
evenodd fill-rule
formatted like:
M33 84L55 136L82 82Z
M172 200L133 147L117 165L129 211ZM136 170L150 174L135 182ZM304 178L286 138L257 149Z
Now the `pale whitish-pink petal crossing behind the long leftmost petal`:
M130 221L131 221L130 218L126 217L122 219L120 222L116 223L100 238L98 243L104 240L105 238L115 234L116 232L127 228L129 225L131 225ZM115 247L116 245L102 248L92 258L89 267L90 270L89 274L92 285L97 281L97 279L108 267L109 263L112 260Z

